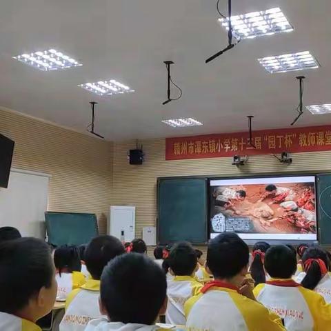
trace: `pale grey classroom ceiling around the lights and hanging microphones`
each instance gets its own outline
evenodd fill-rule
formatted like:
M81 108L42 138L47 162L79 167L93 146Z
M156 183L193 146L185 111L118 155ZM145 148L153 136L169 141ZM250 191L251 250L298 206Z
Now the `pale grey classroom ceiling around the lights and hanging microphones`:
M216 0L10 0L0 10L0 106L76 130L90 122L109 140L284 128L296 116L304 74L304 103L331 103L330 0L232 0L232 14L280 7L290 33L245 39L218 59L227 43ZM227 12L226 0L220 8ZM56 48L83 66L42 72L12 56ZM321 68L269 74L259 57L310 50ZM183 97L163 106L166 70ZM136 92L99 97L77 84L116 79ZM173 90L175 93L176 91ZM172 128L163 119L193 117L200 127ZM331 114L305 112L297 126L331 123Z

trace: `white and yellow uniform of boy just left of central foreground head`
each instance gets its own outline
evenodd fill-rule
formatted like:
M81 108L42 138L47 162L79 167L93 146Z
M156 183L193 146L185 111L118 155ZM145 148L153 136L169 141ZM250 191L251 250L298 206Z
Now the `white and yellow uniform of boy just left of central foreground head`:
M100 281L89 279L67 297L60 331L83 331L92 319L103 317L99 309Z

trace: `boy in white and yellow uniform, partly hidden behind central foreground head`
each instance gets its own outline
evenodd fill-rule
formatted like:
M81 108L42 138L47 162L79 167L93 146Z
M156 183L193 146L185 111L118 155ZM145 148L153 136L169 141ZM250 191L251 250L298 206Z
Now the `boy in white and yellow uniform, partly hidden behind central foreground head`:
M99 236L90 241L85 251L85 259L92 279L88 279L86 284L68 295L66 314L61 321L60 331L83 331L91 319L101 318L99 295L103 268L124 252L121 241L112 236Z

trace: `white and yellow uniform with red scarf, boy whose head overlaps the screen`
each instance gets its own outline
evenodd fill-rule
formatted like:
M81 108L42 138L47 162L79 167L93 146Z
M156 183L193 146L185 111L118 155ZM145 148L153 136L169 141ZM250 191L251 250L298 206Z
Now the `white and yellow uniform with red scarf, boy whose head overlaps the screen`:
M228 283L212 281L185 303L188 331L283 331L281 319Z

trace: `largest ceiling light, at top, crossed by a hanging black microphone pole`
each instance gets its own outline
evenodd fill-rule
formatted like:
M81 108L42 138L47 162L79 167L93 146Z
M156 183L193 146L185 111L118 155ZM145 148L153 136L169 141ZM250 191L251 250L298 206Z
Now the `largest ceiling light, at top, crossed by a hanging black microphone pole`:
M221 26L229 30L228 17L219 19ZM255 38L279 32L291 32L293 27L281 12L281 8L271 8L261 12L248 12L231 17L232 33L237 39Z

